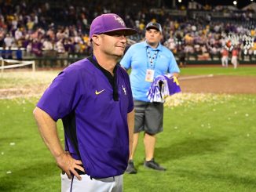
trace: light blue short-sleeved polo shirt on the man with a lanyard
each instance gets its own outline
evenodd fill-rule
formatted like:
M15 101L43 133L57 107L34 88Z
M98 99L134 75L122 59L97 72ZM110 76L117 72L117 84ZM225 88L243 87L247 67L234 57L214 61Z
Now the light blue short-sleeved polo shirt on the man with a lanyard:
M147 49L151 58L154 57L155 52L158 51L153 61L153 66L151 66L149 62ZM147 92L152 85L152 82L145 82L147 69L155 70L154 78L166 73L180 73L174 54L161 44L159 44L156 49L152 49L147 42L139 42L131 45L120 63L126 70L131 68L130 84L133 99L145 102L149 102Z

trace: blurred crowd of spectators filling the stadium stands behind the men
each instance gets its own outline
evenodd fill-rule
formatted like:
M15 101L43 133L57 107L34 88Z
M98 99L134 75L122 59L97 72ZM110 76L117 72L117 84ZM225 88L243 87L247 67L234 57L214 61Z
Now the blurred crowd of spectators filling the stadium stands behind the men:
M58 5L49 1L0 1L0 47L24 48L35 56L65 57L71 53L90 53L90 23L101 13L123 16L128 27L139 33L130 42L144 38L144 27L155 20L163 26L163 44L174 54L195 53L207 59L220 55L221 49L232 46L253 54L256 22L253 12L234 12L232 18L216 20L210 16L172 16L164 7L155 12L154 1L62 1ZM125 10L125 12L124 12ZM224 11L216 7L214 11ZM231 11L231 10L229 10ZM236 17L236 20L233 18ZM237 38L239 40L235 41ZM250 45L249 45L250 44ZM53 52L54 50L54 52Z

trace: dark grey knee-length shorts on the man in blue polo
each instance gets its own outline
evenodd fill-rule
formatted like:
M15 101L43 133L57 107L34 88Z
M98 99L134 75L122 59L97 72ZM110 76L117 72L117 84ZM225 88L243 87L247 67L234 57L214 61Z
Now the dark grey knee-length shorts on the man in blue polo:
M134 100L134 133L147 132L150 135L163 132L163 103L149 103Z

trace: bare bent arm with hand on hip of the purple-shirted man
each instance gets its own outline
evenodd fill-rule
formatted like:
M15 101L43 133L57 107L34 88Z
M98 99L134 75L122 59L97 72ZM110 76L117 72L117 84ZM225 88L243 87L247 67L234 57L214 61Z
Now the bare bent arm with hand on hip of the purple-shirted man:
M78 179L81 179L79 174L75 171L75 168L85 172L82 168L82 161L75 160L71 155L63 150L60 144L60 139L57 134L57 124L44 110L35 107L33 111L35 121L38 124L38 129L43 141L53 154L58 167L67 173L68 178L71 178L71 173Z

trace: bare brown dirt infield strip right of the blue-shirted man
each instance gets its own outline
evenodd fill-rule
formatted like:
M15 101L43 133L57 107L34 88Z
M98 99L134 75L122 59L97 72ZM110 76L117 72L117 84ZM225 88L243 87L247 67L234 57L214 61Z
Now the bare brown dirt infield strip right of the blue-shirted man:
M182 92L256 94L256 77L247 76L181 76Z

